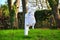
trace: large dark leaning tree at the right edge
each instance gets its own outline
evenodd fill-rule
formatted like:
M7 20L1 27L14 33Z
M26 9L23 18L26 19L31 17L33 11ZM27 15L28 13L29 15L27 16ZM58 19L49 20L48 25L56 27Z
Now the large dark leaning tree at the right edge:
M50 7L52 8L52 12L56 20L57 27L60 28L60 14L59 14L59 9L58 9L59 0L48 0L48 2L50 4Z

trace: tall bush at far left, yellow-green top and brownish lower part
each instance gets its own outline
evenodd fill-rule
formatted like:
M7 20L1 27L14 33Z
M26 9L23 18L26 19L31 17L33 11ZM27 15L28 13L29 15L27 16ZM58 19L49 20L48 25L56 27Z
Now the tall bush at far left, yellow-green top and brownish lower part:
M0 27L1 29L7 29L9 27L9 11L8 6L6 4L1 5L2 16L0 17Z

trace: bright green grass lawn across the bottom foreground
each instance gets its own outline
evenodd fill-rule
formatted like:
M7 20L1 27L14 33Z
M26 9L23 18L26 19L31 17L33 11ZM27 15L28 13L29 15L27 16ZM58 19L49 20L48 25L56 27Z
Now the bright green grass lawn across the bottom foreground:
M29 36L24 30L0 30L0 40L60 40L60 30L30 29Z

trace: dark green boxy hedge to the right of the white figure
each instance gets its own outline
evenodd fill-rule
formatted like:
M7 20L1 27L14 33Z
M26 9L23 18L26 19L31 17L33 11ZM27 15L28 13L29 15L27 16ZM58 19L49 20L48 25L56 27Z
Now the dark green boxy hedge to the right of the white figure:
M53 13L52 10L37 10L35 12L35 18L36 18L36 28L56 28L56 21L54 21L54 16L52 17ZM50 26L50 24L53 24L53 26Z

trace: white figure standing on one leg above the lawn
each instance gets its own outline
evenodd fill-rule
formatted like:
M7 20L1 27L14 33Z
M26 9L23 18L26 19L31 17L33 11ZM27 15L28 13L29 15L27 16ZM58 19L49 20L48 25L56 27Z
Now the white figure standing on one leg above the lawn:
M25 14L25 35L28 35L29 27L32 26L34 29L36 20L34 17L34 13L37 9L37 6L33 7L34 5L31 3L27 3L27 13Z

